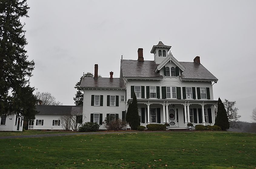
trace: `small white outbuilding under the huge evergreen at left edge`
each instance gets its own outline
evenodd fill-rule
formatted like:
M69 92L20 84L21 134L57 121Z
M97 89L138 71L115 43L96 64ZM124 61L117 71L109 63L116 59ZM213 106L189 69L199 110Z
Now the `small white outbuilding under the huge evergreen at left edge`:
M20 114L3 114L0 116L0 131L22 131L23 122L23 117Z

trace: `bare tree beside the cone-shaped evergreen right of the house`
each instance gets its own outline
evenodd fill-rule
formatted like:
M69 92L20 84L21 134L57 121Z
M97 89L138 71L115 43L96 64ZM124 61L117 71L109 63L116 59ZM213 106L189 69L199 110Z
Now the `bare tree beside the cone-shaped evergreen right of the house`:
M238 108L234 107L236 104L236 102L232 102L232 101L228 101L227 99L225 99L225 101L223 102L223 105L227 111L227 116L228 116L228 121L230 124L230 128L239 128L238 125L238 119L241 117L240 115L238 115Z

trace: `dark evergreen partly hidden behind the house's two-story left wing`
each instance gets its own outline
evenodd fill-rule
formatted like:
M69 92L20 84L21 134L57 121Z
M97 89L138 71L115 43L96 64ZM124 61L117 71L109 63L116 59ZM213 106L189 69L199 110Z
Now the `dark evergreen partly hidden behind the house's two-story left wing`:
M83 101L84 101L84 93L83 93L83 90L80 89L80 84L81 84L81 81L82 81L83 77L93 77L93 74L90 73L90 72L87 72L86 74L84 74L80 78L79 82L77 82L75 84L74 88L77 89L77 92L76 92L75 97L73 99L75 101L75 105L77 105L77 106L82 106L83 105ZM98 77L101 77L101 75L98 75Z

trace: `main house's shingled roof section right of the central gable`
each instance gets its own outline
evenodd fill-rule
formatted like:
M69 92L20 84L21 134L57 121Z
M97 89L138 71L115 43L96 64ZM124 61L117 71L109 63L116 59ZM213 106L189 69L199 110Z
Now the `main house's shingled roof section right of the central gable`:
M194 62L180 62L185 70L181 74L181 79L205 79L205 80L218 80L209 70L202 64Z

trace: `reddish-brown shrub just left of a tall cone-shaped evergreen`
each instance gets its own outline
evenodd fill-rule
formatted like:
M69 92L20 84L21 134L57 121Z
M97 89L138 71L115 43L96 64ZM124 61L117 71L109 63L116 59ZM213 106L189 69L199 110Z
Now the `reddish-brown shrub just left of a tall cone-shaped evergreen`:
M125 121L122 121L120 119L116 120L110 120L110 117L105 118L105 124L104 126L107 128L107 130L125 130L126 129L126 123Z

